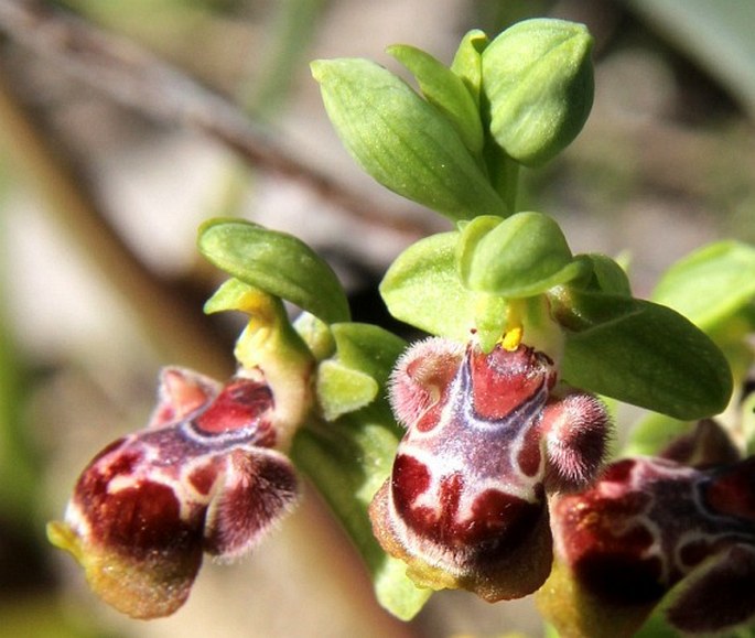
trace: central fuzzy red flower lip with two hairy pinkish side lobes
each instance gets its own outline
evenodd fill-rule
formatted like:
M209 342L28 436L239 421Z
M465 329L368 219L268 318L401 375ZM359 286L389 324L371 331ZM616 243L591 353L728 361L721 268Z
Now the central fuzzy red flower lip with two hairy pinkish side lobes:
M550 359L524 345L485 354L431 338L401 357L390 398L408 430L370 518L418 585L494 602L544 582L547 493L592 478L608 424L597 399L559 394L556 381Z

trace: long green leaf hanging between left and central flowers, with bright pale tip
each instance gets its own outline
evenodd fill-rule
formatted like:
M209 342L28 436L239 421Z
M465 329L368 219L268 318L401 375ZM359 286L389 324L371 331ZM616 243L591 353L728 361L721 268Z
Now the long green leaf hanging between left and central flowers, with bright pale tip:
M387 405L375 404L323 428L303 429L292 457L327 500L373 577L379 603L402 620L411 619L431 595L406 575L373 534L367 509L390 475L401 432Z

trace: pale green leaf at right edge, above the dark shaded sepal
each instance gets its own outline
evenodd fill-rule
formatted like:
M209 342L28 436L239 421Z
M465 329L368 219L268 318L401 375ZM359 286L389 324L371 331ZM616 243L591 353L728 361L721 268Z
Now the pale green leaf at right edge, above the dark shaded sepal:
M755 298L755 248L737 241L712 244L669 268L652 300L709 332L725 324Z

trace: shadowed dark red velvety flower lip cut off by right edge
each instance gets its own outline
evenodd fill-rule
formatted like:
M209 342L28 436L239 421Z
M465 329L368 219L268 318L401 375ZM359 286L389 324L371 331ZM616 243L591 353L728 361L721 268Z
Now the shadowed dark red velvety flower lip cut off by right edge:
M703 467L625 458L554 500L558 566L539 603L563 636L630 636L672 588L667 617L682 631L755 616L755 458L683 456Z

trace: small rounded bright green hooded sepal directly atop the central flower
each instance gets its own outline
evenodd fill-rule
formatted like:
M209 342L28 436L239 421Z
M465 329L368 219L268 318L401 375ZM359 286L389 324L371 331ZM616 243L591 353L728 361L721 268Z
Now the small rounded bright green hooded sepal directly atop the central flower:
M559 225L540 213L470 221L457 245L457 263L466 288L509 299L541 294L582 270Z

